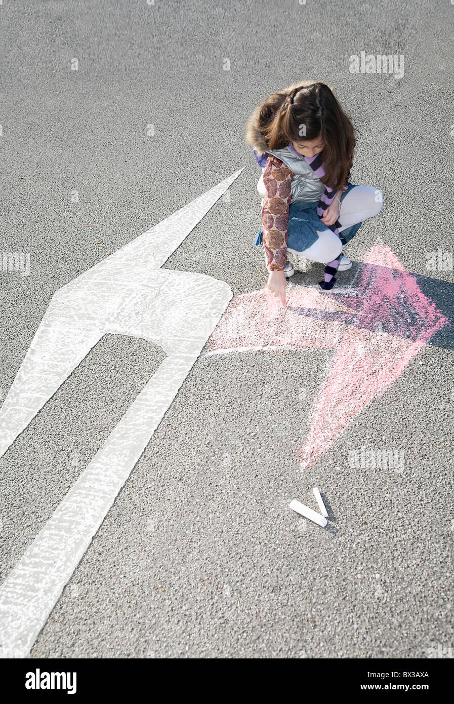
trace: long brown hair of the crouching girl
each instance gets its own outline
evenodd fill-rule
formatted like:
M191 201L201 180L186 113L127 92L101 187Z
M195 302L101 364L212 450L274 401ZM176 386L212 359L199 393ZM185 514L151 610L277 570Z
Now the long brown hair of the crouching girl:
M272 93L260 104L257 127L270 150L320 135L326 173L322 183L339 189L346 182L355 151L355 127L324 83L298 87L288 95Z

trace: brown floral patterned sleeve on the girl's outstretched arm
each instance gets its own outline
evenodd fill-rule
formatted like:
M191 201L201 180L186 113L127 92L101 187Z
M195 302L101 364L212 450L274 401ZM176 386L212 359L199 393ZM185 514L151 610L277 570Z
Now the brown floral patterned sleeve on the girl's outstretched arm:
M286 262L290 184L293 172L276 156L268 154L263 183L266 194L262 206L263 246L267 268L282 271Z

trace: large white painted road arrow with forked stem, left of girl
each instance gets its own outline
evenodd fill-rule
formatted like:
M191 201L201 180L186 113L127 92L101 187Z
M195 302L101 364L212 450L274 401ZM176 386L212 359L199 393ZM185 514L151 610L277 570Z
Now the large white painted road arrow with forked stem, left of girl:
M225 282L160 269L240 169L56 291L0 410L0 456L108 333L167 357L0 589L0 657L25 658L230 299Z

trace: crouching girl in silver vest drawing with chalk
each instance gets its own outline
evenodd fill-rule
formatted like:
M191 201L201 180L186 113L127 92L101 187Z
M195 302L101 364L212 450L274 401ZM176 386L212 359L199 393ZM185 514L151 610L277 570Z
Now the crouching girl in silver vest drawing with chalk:
M374 187L349 183L351 121L327 85L303 81L272 93L253 111L246 142L263 169L256 244L265 251L267 288L285 305L286 277L310 259L325 265L320 287L332 289L336 272L351 268L343 244L383 204Z

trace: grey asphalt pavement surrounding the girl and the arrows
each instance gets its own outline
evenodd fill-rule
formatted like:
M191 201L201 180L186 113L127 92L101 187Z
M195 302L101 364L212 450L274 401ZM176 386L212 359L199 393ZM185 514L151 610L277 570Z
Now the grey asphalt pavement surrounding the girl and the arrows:
M239 314L230 351L221 321L30 658L453 657L454 5L4 0L0 26L2 401L58 289L240 169L164 268L227 282L251 313L267 275L244 123L299 79L334 88L358 129L352 181L384 195L346 249L345 297L391 252L418 314L443 321L416 347L385 329L379 355L403 363L370 399L364 338L357 413L348 354L333 362L353 319L325 345L336 321L305 309L296 346L263 349ZM403 75L352 73L362 51L402 57ZM30 272L5 253L28 253ZM295 301L321 273L291 279ZM2 584L164 358L106 334L0 458ZM302 471L327 378L340 425ZM314 486L326 528L288 507L317 510Z

